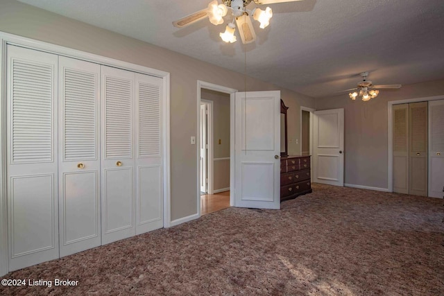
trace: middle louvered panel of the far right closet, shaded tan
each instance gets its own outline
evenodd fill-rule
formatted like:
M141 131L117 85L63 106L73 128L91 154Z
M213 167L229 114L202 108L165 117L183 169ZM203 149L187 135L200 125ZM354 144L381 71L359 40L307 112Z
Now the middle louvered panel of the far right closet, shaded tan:
M427 196L427 102L409 104L409 194Z

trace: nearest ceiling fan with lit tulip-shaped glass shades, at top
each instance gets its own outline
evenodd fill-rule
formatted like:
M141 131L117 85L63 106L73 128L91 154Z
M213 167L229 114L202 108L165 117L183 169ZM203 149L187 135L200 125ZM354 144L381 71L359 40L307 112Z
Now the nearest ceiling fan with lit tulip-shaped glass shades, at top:
M222 0L223 4L219 4L217 0L214 0L208 4L207 8L194 12L186 17L182 17L182 19L178 19L177 21L173 21L173 26L183 28L207 17L212 24L217 26L223 24L223 17L225 17L228 11L230 11L233 19L226 26L225 32L219 33L219 36L224 42L235 42L237 38L234 36L234 31L236 30L234 21L236 21L242 43L248 44L256 40L256 33L253 24L251 23L250 16L253 16L253 19L259 21L260 28L268 26L269 21L273 16L273 11L269 7L265 10L257 7L253 8L253 10L247 10L246 6L248 6L251 1L252 0ZM303 0L253 0L253 2L258 5L293 1Z

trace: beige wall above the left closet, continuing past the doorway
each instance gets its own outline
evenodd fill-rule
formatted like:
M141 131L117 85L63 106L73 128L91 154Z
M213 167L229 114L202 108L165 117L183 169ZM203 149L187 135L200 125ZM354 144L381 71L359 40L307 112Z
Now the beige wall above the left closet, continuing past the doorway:
M1 0L0 31L171 73L171 220L196 214L198 147L189 137L198 129L197 80L244 91L241 73L13 0ZM247 91L280 89L253 78L246 85ZM314 100L280 90L289 106L289 139L298 139L300 105L314 107ZM289 152L299 152L296 142L289 143Z

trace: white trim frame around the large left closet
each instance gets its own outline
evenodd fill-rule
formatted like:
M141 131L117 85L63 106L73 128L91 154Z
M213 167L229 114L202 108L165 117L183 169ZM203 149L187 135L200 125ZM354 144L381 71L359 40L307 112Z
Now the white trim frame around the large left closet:
M162 78L162 178L163 178L163 218L164 227L171 226L171 191L170 191L170 73L144 67L130 62L105 58L101 55L69 49L48 42L33 40L31 38L4 33L0 31L0 276L8 273L8 228L6 210L6 45L17 45L28 49L35 49L69 58L77 58L87 62L96 62L110 67L118 67L137 73Z

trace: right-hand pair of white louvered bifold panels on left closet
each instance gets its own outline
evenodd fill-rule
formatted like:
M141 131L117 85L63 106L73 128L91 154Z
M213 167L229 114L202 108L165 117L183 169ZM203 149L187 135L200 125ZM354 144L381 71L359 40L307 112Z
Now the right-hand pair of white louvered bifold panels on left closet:
M102 243L162 227L162 79L102 66Z

